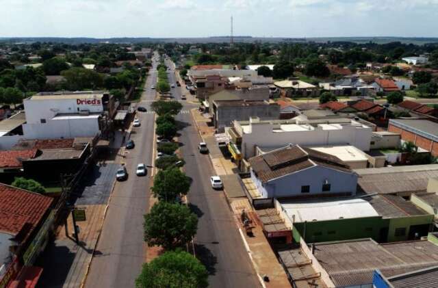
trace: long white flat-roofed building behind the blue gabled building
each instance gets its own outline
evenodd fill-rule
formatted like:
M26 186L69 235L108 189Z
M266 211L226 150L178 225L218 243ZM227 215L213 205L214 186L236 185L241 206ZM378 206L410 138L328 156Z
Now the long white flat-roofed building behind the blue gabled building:
M370 150L372 127L347 118L298 120L234 121L233 133L241 139L241 153L245 158L256 155L257 146L263 148L299 144L302 146L352 145ZM231 136L231 138L233 138Z

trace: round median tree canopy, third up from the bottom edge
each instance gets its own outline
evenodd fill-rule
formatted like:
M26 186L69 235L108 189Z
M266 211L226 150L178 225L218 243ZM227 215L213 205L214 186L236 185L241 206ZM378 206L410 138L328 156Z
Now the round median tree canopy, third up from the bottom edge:
M179 195L187 195L190 189L190 177L181 172L179 168L159 170L153 179L151 188L159 200L172 202Z

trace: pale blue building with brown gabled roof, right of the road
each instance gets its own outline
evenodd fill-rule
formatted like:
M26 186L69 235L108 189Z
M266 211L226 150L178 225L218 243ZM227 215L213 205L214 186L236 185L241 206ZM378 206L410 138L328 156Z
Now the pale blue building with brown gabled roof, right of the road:
M356 194L357 174L339 158L311 148L290 145L248 161L263 198Z

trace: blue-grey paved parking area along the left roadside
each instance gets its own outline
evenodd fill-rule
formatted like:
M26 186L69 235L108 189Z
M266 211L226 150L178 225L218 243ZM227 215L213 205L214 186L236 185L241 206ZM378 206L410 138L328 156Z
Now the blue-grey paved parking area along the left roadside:
M92 166L83 176L82 183L75 194L78 195L75 205L103 205L111 194L116 172L120 165L106 163L103 166Z

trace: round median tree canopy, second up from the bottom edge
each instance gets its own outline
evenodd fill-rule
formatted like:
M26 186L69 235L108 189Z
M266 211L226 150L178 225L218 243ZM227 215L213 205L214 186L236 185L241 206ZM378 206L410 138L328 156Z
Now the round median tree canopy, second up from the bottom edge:
M187 244L196 235L198 217L186 205L159 201L144 215L143 226L148 246L172 250Z

